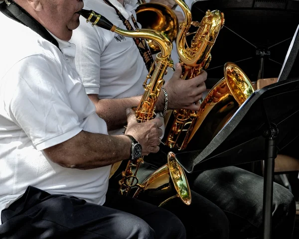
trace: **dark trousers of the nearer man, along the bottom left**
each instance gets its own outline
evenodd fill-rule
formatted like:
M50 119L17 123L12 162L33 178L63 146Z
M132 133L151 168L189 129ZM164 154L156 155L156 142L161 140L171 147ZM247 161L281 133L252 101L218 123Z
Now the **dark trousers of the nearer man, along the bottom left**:
M1 239L185 239L172 213L109 191L104 206L29 186L1 213Z

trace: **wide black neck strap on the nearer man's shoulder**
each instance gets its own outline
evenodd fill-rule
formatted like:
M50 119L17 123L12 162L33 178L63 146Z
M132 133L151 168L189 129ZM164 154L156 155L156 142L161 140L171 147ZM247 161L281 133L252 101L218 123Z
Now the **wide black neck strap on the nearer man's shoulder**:
M7 17L22 23L23 25L29 27L42 38L48 40L55 46L59 48L56 39L42 26L37 20L35 20L28 12L26 12L22 7L17 5L15 2L5 0L0 3L0 11Z

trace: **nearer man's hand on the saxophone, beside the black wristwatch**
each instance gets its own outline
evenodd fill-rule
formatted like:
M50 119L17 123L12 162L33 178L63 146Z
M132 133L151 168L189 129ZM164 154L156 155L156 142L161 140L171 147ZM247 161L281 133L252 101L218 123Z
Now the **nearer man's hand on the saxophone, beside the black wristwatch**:
M142 146L142 155L159 151L160 136L162 136L162 120L151 119L144 123L138 123L135 112L127 109L128 126L125 134L132 135Z

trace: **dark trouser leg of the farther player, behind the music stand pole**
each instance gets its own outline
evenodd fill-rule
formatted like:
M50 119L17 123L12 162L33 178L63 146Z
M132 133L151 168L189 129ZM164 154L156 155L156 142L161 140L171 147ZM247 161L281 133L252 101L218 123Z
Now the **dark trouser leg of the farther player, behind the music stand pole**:
M161 151L145 158L156 166L165 163L165 159ZM262 239L263 177L230 166L194 172L187 178L194 192L223 210L230 224L230 239ZM273 239L292 239L295 214L293 194L274 183Z

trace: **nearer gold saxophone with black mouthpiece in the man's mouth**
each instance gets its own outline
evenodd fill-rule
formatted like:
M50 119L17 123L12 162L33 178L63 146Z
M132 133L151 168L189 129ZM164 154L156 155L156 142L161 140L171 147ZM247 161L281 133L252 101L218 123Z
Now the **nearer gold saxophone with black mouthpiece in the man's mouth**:
M159 46L161 51L150 67L147 79L143 84L145 92L139 105L135 109L138 122L146 122L153 119L155 116L154 107L164 84L163 76L167 73L167 67L173 66L173 62L170 58L172 50L171 40L167 35L152 29L136 29L136 31L120 29L104 16L92 10L82 9L79 11L79 14L85 17L87 22L90 21L92 25L97 25L128 37L150 39ZM131 189L137 187L138 192L135 193L133 197L141 195L146 197L146 195L149 195L147 193L148 190L152 192L155 188L157 192L155 193L155 198L157 194L162 198L162 202L158 202L159 206L162 206L175 197L179 197L186 205L191 203L191 193L186 175L172 152L168 153L167 163L165 165L157 169L144 183L139 183L137 172L142 163L143 157L128 161L125 171L122 172L122 179L119 181L120 194L128 196ZM161 190L162 188L168 190Z

